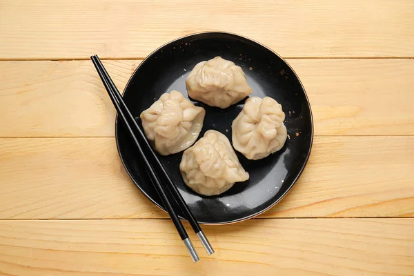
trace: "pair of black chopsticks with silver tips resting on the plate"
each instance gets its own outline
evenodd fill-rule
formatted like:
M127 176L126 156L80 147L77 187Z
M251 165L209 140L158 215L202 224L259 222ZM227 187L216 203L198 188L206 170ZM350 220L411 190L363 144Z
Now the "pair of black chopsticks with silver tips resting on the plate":
M203 244L208 255L213 254L214 250L211 247L210 242L208 242L207 237L204 235L203 230L201 230L201 227L197 223L197 220L195 219L193 213L191 213L190 208L188 208L186 201L184 201L183 197L181 197L179 190L172 182L170 176L168 175L168 172L166 172L166 169L161 164L161 161L159 161L157 153L152 149L152 146L146 139L144 132L142 132L141 128L139 128L137 124L137 121L135 121L134 117L132 117L131 112L128 110L126 104L124 103L124 100L122 99L121 94L119 93L112 79L110 79L108 72L106 72L106 69L103 67L103 64L99 60L99 57L95 55L90 57L90 59L92 59L92 62L95 68L97 69L99 77L101 77L103 86L105 86L106 91L108 92L108 95L118 112L118 115L121 117L121 120L123 121L126 129L130 134L130 137L135 142L135 145L139 150L139 155L141 155L141 158L144 160L146 170L152 181L152 184L155 186L157 193L159 194L159 197L161 197L161 201L166 207L168 214L170 215L172 222L175 225L175 228L177 228L179 236L186 245L186 248L188 249L191 258L193 259L193 262L197 262L199 260L199 257L197 255L197 252L195 251L193 243L190 241L190 238L188 237L186 229L181 224L179 217L175 213L175 210L172 208L170 199L168 199L166 194L168 192L170 192L172 198L175 199L179 208L184 213L186 219L188 220L188 222L190 222L191 227L193 228L195 233L197 233L197 237L200 239L200 242L201 244ZM139 143L138 139L141 140L141 144ZM144 148L150 152L150 155L152 155L155 164L150 164L150 161L148 161L148 158L144 154ZM161 170L162 176L164 177L164 180L166 180L167 187L161 184L161 181L159 180L159 177L157 176L154 170L154 166L157 166L157 168Z

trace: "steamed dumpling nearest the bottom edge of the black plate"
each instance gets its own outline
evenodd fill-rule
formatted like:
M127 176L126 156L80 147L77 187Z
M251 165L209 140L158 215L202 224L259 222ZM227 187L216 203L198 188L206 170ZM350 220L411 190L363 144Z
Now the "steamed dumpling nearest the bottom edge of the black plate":
M219 195L249 177L230 141L216 130L184 151L179 170L186 185L201 195Z

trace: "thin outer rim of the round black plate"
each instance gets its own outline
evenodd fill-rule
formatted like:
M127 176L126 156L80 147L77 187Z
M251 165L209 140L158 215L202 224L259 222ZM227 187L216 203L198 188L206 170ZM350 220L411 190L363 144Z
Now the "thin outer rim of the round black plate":
M288 68L290 68L290 70L292 70L293 74L295 74L297 80L299 81L300 86L302 87L302 90L304 90L304 94L305 94L305 98L306 98L306 101L307 101L307 104L308 104L309 112L311 113L311 141L310 141L311 144L309 146L308 152L306 152L306 159L304 161L304 164L300 168L297 176L295 177L295 179L293 179L292 184L290 184L290 186L288 186L288 188L286 189L286 191L277 200L275 200L272 204L270 204L270 206L267 206L263 210L260 210L259 212L256 212L253 215L248 215L246 217L242 217L240 219L233 219L231 221L225 221L225 222L206 222L206 221L199 221L197 219L197 222L199 224L204 224L204 225L227 225L227 224L235 224L237 222L242 222L242 221L246 221L248 219L253 219L254 217L257 217L258 215L262 215L266 211L270 210L270 208L273 208L282 199L284 199L284 197L286 197L286 195L290 192L290 190L292 190L293 186L295 186L297 180L299 179L299 177L304 172L304 168L306 167L306 164L308 164L309 157L311 156L311 152L312 152L312 148L313 148L313 138L314 138L313 112L312 112L312 108L311 108L311 101L309 101L308 94L306 93L306 90L304 88L304 85L303 85L302 81L299 79L299 76L297 75L297 73L295 72L295 70L293 70L293 67L290 66L290 64L286 61L286 59L284 59L283 57L281 57L274 50L268 48L268 46L264 45L263 43L260 43L258 41L255 41L254 39L250 39L249 37L244 37L243 35L240 35L240 34L235 34L233 32L224 32L224 31L195 32L195 33L192 33L192 34L184 35L183 37L178 37L177 39L173 39L173 40L168 41L167 43L164 43L163 45L159 46L158 48L156 48L155 50L153 50L145 59L143 59L141 61L141 63L138 64L137 68L135 68L134 72L132 72L132 75L130 75L130 78L128 79L128 82L126 83L126 86L124 88L124 91L122 92L122 97L124 97L124 94L125 94L126 90L130 86L130 82L132 81L132 77L134 77L134 75L137 72L137 70L139 70L139 68L143 64L145 64L148 61L148 59L150 57L152 57L152 55L155 55L159 50L161 50L161 48L164 48L165 46L169 45L170 43L174 43L175 41L179 41L181 39L185 39L185 38L188 38L188 37L194 37L194 36L197 36L197 35L200 35L200 34L212 34L212 35L213 34L228 34L228 35L233 36L233 37L238 37L238 38L246 39L247 41L252 41L254 43L257 43L259 46L262 46L263 48L266 48L270 52L273 52L273 54L276 55L277 57L279 57L279 59L282 59L282 61L284 61L284 63L286 63L286 65L288 66ZM119 115L118 115L118 112L117 112L117 115L115 117L115 141L116 141L116 144L117 144L117 152L118 152L118 155L119 155L119 159L121 159L122 165L124 166L124 169L128 173L128 176L130 177L130 180L132 181L132 183L135 184L135 186L137 186L137 188L139 188L139 190L141 191L141 193L147 199L149 199L153 204L155 204L155 206L157 206L158 208L160 208L161 210L163 210L165 213L168 213L167 210L163 206L159 205L157 203L157 201L155 201L154 199L152 199L152 197L150 197L146 193L146 191L143 188L141 188L141 186L139 186L139 184L137 183L137 181L135 181L134 177L132 177L130 171L127 169L127 167L126 167L126 161L124 160L124 157L121 155L121 151L120 151L120 145L119 145L119 139L118 139L118 124L119 124ZM181 215L179 215L179 218L180 219L183 219L184 221L188 221L185 217L181 217Z

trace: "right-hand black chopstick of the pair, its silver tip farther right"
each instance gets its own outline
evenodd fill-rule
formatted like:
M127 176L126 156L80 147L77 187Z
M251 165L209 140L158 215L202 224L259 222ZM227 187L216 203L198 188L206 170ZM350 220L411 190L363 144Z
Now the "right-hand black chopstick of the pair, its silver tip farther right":
M137 121L135 121L134 117L132 117L132 114L128 110L128 107L126 106L124 100L121 97L121 94L117 90L117 87L115 86L115 83L113 83L112 79L109 77L108 72L106 72L106 69L103 67L103 64L101 63L99 57L97 55L91 57L92 61L94 63L96 62L99 68L101 68L101 71L103 73L103 77L108 81L108 84L112 91L115 94L115 97L117 98L117 101L119 101L122 110L126 112L126 117L128 118L128 121L130 121L130 128L137 130L139 132L139 136L141 137L142 141L144 141L144 144L146 148L151 152L152 158L157 163L158 168L161 169L161 172L163 173L164 177L167 180L168 188L170 189L170 193L172 193L172 196L174 197L175 201L177 201L177 204L179 205L179 208L183 211L184 216L190 223L191 227L197 234L197 237L200 239L201 244L203 244L204 248L206 249L208 255L211 255L214 253L213 247L210 245L210 242L208 242L208 239L206 235L204 235L203 230L201 230L201 227L197 223L197 220L195 219L193 213L191 213L190 208L188 208L188 205L186 204L186 201L184 201L184 198L179 193L179 190L177 189L177 186L172 182L172 179L170 175L168 175L168 172L164 168L164 166L161 164L161 161L159 161L159 158L157 157L157 153L152 149L152 146L150 146L150 143L146 139L144 132L142 132L141 128L139 128ZM95 66L96 67L96 66Z

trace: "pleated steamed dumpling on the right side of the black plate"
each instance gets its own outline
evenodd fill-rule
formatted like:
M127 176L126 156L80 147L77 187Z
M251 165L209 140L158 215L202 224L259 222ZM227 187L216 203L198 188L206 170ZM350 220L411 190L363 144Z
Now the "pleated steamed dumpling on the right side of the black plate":
M248 159L280 150L288 135L282 106L270 97L250 97L231 126L233 146Z

